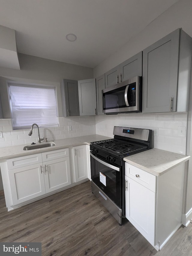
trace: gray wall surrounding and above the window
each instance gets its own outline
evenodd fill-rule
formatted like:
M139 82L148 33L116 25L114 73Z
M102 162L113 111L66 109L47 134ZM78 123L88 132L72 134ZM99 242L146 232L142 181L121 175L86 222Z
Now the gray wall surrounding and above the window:
M62 116L60 82L63 78L82 80L93 78L93 69L60 61L19 54L21 70L0 67L0 94L4 118L11 118L6 80L56 86L58 116Z

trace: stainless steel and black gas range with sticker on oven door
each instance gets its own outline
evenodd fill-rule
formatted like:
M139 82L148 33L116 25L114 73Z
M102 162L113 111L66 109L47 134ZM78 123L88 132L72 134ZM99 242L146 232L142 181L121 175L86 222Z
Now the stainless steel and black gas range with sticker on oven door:
M122 225L125 218L124 157L152 148L152 130L114 126L114 139L91 142L91 190Z

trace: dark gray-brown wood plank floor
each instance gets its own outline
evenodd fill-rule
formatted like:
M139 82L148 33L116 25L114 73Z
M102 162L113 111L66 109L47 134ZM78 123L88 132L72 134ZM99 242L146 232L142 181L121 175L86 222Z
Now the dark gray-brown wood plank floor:
M0 242L41 242L42 256L191 256L192 225L157 252L127 222L119 226L85 182L7 212L0 194Z

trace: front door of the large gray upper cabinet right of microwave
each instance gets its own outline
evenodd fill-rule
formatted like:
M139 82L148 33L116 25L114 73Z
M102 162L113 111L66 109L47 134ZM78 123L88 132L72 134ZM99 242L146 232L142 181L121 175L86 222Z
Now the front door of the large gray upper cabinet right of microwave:
M143 50L143 113L176 111L179 36L177 29Z

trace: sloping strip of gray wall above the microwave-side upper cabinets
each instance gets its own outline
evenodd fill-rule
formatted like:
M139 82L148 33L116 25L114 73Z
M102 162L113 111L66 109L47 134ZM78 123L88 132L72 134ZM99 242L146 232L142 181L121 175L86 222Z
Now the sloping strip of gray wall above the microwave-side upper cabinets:
M102 75L179 27L192 37L191 10L191 0L180 0L171 6L122 48L95 67L94 77Z

